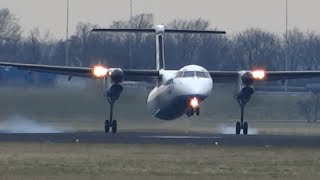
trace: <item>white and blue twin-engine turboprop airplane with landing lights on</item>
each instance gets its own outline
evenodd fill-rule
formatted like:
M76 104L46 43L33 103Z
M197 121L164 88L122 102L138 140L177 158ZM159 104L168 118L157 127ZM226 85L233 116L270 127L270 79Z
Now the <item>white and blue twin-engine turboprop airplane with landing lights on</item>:
M165 33L207 33L225 34L224 31L198 31L165 29L157 25L155 29L93 29L93 32L144 32L156 36L156 69L121 69L104 65L94 67L69 67L39 64L20 64L0 62L0 66L15 67L21 70L47 72L72 76L101 78L104 80L104 96L110 104L110 117L105 121L105 132L112 129L117 132L117 121L113 119L114 103L123 90L123 82L127 79L156 78L157 84L149 93L147 106L151 114L159 119L174 120L186 114L188 117L200 115L200 105L211 93L214 83L236 82L238 84L236 100L240 105L240 121L236 123L235 133L248 133L248 123L243 114L246 104L254 94L254 83L257 81L276 81L285 79L320 77L320 71L210 71L198 65L187 65L179 70L167 70L164 59Z

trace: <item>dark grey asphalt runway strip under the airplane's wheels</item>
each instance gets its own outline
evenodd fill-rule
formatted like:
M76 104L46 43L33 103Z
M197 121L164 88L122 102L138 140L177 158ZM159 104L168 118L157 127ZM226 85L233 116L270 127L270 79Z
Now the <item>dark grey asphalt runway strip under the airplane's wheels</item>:
M320 147L320 136L220 135L126 132L0 133L0 142L195 144L225 146Z

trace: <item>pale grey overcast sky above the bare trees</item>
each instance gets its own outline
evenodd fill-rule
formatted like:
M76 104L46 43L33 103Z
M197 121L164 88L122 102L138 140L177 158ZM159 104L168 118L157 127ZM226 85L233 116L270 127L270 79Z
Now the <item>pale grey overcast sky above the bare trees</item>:
M25 32L39 27L55 38L65 37L67 0L0 0L20 19ZM130 0L69 0L70 33L78 22L108 26L130 17ZM289 28L320 32L319 0L288 0ZM133 15L152 13L155 23L203 18L232 34L250 27L283 33L285 0L133 0Z

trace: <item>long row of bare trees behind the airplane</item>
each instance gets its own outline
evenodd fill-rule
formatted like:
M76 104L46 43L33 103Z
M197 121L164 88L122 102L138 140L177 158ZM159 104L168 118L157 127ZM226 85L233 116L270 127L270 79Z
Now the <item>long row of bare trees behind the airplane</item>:
M152 14L139 14L131 21L114 21L110 28L153 28ZM210 30L204 19L177 19L165 24L176 29ZM110 67L154 69L153 34L93 33L102 27L79 23L66 40L41 36L38 29L22 36L19 21L8 9L0 9L0 61L66 65L103 63ZM106 26L103 26L106 27ZM131 48L130 48L131 47ZM130 53L131 49L131 53ZM130 63L130 54L132 63ZM263 67L267 70L320 69L320 34L288 31L287 38L262 29L249 28L233 35L166 34L165 59L168 69L198 64L209 70L241 70Z

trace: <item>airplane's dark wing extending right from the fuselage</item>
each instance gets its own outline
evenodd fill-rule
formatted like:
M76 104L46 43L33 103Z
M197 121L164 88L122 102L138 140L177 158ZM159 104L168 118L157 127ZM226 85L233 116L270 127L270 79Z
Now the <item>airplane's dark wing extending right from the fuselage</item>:
M218 83L236 82L239 78L239 71L209 71L209 73L214 82ZM306 78L320 78L320 71L265 71L265 77L259 81Z

